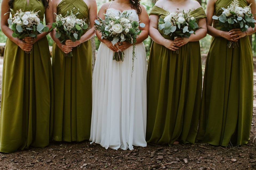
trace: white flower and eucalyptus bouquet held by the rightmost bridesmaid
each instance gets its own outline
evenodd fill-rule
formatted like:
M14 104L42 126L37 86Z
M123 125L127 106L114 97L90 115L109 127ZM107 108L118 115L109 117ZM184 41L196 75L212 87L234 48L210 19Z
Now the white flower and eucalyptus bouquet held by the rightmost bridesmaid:
M222 31L230 31L235 28L240 28L241 31L247 31L249 27L254 28L256 20L251 13L251 7L239 7L239 1L234 0L227 8L222 8L222 14L213 16L213 19L219 20L219 25L223 26ZM227 45L229 48L237 48L238 42L230 41Z

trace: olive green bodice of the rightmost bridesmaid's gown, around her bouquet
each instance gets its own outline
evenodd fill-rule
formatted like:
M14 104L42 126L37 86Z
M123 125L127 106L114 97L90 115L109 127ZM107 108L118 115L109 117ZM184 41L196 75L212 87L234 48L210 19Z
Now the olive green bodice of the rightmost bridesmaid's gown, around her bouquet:
M239 6L240 7L245 7L248 5L246 0L238 0L239 1ZM223 12L221 8L227 8L233 0L217 0L215 2L215 12L214 15L220 16ZM219 20L214 21L214 28L216 29L221 29L221 26L219 26Z

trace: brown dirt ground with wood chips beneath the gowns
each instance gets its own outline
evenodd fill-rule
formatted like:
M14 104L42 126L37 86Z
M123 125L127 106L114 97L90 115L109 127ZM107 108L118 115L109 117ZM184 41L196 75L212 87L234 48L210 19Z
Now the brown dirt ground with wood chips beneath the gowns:
M205 57L203 57L203 68ZM2 71L2 59L0 60ZM2 73L0 73L2 75ZM100 145L53 142L40 149L0 153L0 169L256 169L256 72L250 141L243 146L196 145L134 147L133 151L112 150Z

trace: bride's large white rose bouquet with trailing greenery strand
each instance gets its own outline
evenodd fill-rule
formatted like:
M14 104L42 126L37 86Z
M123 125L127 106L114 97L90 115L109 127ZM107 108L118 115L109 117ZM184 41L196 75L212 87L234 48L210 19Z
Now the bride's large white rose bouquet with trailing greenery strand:
M139 27L145 27L140 23L130 19L131 13L124 11L119 12L119 16L106 15L105 20L97 17L95 20L95 30L102 33L102 39L108 39L115 45L118 42L128 41L133 44L133 67L135 58L135 43L137 36L141 33ZM123 61L124 52L115 52L113 60Z

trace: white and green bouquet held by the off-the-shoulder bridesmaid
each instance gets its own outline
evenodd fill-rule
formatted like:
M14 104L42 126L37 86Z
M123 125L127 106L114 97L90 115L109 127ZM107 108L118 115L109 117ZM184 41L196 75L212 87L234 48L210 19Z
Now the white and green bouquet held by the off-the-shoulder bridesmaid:
M198 24L193 16L190 16L191 10L188 12L176 11L168 12L165 18L159 18L158 29L163 30L165 35L174 40L177 37L189 38L191 34L195 34ZM177 50L176 53L179 51Z

